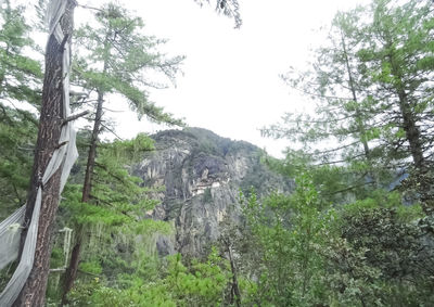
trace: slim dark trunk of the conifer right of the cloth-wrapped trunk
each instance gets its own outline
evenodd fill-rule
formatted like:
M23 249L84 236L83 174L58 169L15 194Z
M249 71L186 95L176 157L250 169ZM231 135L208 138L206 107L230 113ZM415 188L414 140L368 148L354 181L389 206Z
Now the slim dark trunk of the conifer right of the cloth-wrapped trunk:
M102 105L104 102L104 94L102 92L98 92L98 104L97 104L97 113L95 119L93 123L93 131L90 140L89 146L89 155L88 155L88 163L86 166L86 175L85 175L85 183L82 187L82 195L81 202L87 203L90 201L90 193L92 191L92 175L95 164L97 157L97 146L98 146L98 137L101 130L101 118L102 118ZM64 287L62 294L62 303L61 306L67 304L67 294L74 286L74 281L77 277L78 265L80 261L80 251L81 251L81 243L82 243L82 229L76 232L76 243L73 247L73 252L71 255L69 266L66 269L65 278L64 278Z

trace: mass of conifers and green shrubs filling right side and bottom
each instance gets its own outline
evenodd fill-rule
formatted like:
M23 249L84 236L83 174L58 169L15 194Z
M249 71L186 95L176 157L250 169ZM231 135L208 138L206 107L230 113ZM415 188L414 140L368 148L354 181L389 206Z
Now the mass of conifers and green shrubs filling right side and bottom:
M316 114L288 114L264 130L303 144L283 161L264 158L295 179L293 193L241 195L241 225L221 225L207 259L149 259L122 286L88 277L72 302L432 304L431 2L375 0L339 13L328 41L311 71L283 76L312 98Z

